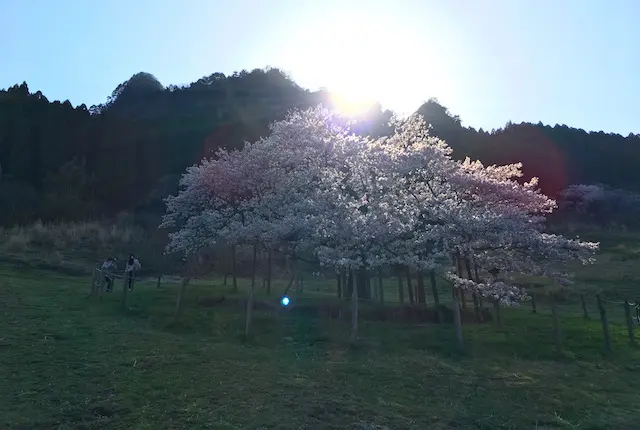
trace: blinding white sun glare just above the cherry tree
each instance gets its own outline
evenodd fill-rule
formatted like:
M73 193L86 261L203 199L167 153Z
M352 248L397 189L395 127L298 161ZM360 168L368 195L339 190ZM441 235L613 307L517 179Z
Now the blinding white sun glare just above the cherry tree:
M323 21L293 42L291 69L306 86L326 88L345 113L365 112L375 102L409 113L425 97L413 87L425 68L416 67L420 57L405 30L348 15Z

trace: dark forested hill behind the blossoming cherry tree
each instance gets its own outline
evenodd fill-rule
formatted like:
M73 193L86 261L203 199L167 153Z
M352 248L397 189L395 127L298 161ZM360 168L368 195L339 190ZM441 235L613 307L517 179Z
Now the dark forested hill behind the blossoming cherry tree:
M265 135L291 108L320 102L330 104L326 92L300 88L278 69L214 73L169 87L138 73L91 108L49 102L26 83L13 86L0 91L0 224L162 211L187 166ZM456 157L522 161L548 194L575 183L640 190L640 135L540 123L474 130L435 100L419 112ZM385 133L390 117L374 106L357 131Z

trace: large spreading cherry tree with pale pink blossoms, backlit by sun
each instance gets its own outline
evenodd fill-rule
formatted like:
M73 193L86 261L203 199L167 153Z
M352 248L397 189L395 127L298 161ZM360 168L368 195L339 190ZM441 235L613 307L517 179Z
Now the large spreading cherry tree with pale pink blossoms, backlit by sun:
M567 279L566 265L590 262L597 244L543 232L555 202L521 184L520 165L455 161L451 149L413 116L370 140L322 107L293 112L240 151L220 151L189 168L167 199L169 251L196 252L224 241L315 256L339 273L402 265L448 271L454 292L512 304L526 294L507 276ZM465 277L462 265L466 264ZM254 265L255 266L255 265ZM472 270L473 266L473 270ZM247 306L248 334L254 281ZM357 336L353 289L351 337ZM461 338L460 309L454 303Z

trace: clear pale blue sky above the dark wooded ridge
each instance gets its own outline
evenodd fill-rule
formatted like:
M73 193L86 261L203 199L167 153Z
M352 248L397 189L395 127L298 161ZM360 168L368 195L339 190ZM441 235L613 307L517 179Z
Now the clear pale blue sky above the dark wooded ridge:
M164 85L278 67L301 86L464 125L640 133L637 0L0 0L0 88L102 103L134 73Z

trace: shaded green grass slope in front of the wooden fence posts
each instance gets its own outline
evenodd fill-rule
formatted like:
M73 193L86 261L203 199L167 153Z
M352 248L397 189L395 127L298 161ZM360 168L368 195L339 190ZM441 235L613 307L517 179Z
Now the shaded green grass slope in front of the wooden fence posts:
M0 266L0 427L214 429L637 428L640 352L612 326L602 355L598 321L504 310L503 329L349 323L285 310L255 315L242 339L228 293L198 281L173 320L177 284L140 283L87 299L89 279ZM243 282L246 285L246 282ZM309 282L307 297L322 295ZM332 288L333 285L325 287ZM279 286L276 291L281 291ZM389 286L392 288L392 286ZM277 300L277 299L272 299Z

